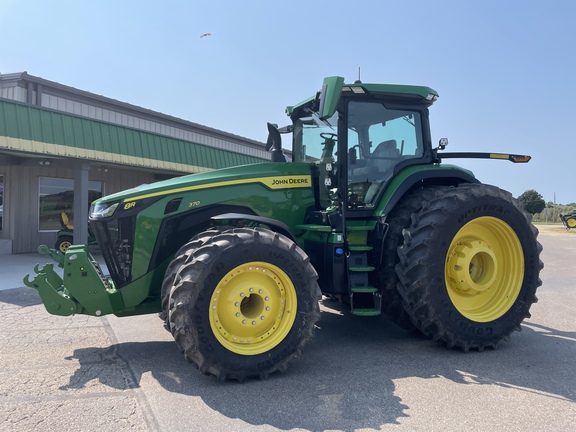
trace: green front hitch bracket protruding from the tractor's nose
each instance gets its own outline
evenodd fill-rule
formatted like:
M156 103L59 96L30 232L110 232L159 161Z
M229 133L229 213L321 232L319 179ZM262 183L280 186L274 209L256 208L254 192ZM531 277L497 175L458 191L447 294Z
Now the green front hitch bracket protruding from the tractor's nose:
M54 259L64 269L63 278L54 271L54 264L41 269L36 276L24 276L24 284L40 294L46 310L53 315L85 314L101 316L124 308L124 302L113 283L104 276L100 265L85 245L70 246L66 254L44 245L38 252Z

